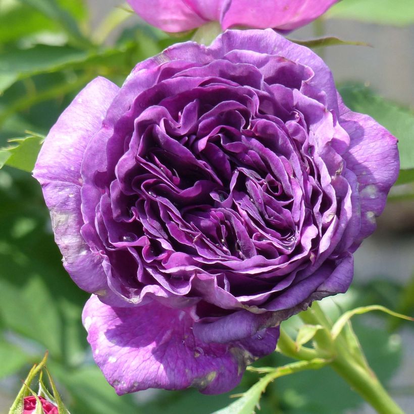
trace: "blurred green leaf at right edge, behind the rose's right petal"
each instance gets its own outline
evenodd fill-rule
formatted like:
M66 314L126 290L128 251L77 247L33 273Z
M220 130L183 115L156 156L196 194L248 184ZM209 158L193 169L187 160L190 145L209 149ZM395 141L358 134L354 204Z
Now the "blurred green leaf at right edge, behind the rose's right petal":
M398 138L400 168L404 171L414 170L414 113L360 84L342 85L339 92L345 105L352 111L372 116ZM412 172L400 174L401 181L398 180L397 184L414 179Z

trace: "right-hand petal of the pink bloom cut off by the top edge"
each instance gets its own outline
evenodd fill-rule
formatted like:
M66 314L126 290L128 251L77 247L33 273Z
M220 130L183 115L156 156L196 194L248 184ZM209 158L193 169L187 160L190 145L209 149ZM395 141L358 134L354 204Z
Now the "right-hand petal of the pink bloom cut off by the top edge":
M268 27L293 30L325 13L338 0L238 0L228 2L223 10L223 29L231 26L248 26L257 29Z

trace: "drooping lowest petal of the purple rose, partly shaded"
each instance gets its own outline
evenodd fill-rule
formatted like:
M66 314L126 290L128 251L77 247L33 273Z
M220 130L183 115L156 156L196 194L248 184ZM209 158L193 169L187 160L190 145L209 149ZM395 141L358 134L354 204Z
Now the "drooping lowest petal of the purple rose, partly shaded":
M227 344L205 344L193 335L191 312L157 301L117 308L96 296L88 300L82 316L88 341L118 394L189 386L205 394L226 392L239 383L247 364L276 347L278 328Z

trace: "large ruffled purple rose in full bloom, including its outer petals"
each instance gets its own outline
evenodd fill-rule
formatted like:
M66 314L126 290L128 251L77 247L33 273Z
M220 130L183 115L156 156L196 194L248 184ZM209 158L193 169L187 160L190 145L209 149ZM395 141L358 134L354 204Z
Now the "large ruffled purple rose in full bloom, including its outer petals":
M345 292L398 173L396 139L273 30L174 45L89 83L34 170L119 394L230 390L278 324Z

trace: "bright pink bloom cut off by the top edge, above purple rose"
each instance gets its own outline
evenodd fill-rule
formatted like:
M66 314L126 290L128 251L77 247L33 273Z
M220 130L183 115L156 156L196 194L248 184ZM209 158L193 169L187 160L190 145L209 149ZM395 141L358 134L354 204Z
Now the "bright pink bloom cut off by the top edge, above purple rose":
M183 32L211 21L232 26L293 30L312 22L339 0L127 0L147 23Z

